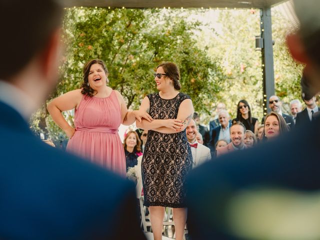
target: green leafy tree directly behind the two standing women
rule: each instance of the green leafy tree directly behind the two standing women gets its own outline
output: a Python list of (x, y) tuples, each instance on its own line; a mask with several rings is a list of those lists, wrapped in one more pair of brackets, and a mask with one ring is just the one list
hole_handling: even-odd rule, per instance
[[(137, 108), (146, 94), (157, 91), (155, 67), (172, 61), (180, 68), (181, 91), (190, 95), (196, 111), (207, 113), (224, 75), (219, 61), (196, 45), (200, 22), (186, 21), (181, 14), (177, 9), (66, 9), (61, 80), (51, 98), (79, 88), (83, 64), (100, 58), (108, 68), (109, 85), (120, 91), (128, 108)], [(48, 126), (57, 137), (56, 126)]]

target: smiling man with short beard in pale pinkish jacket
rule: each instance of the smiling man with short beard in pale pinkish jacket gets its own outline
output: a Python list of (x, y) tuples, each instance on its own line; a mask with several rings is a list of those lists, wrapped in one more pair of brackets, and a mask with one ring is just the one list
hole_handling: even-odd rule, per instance
[(242, 150), (246, 148), (243, 143), (244, 140), (245, 127), (242, 122), (237, 121), (230, 127), (231, 142), (226, 146), (220, 147), (216, 150), (216, 156), (224, 153), (228, 153), (235, 150)]

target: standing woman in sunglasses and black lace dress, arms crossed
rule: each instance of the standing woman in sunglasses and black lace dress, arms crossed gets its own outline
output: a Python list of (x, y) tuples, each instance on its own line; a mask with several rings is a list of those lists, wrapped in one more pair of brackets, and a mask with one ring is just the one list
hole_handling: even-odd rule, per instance
[(148, 130), (141, 163), (144, 205), (149, 207), (154, 240), (162, 239), (164, 207), (173, 207), (175, 239), (182, 240), (186, 221), (185, 177), (192, 167), (192, 154), (185, 128), (192, 118), (190, 97), (179, 92), (180, 73), (172, 62), (157, 66), (154, 81), (158, 92), (142, 100), (140, 111), (151, 122), (136, 126)]

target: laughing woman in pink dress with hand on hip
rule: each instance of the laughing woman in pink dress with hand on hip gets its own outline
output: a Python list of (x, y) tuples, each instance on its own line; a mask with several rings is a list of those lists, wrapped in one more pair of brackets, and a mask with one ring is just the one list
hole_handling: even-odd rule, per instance
[[(83, 67), (82, 88), (54, 98), (47, 109), (70, 138), (67, 151), (78, 154), (114, 172), (125, 175), (125, 156), (118, 135), (120, 123), (132, 124), (135, 119), (152, 120), (147, 112), (128, 111), (122, 95), (107, 86), (107, 69), (102, 60), (93, 59)], [(75, 108), (74, 126), (62, 111)]]

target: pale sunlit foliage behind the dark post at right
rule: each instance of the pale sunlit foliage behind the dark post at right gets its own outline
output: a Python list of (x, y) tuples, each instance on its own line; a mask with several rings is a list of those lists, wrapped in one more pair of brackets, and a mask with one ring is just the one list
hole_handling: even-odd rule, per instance
[[(201, 13), (203, 14), (203, 13)], [(261, 119), (262, 70), (261, 52), (255, 50), (254, 36), (260, 34), (260, 12), (258, 9), (208, 10), (205, 13), (209, 27), (198, 35), (199, 47), (208, 49), (208, 55), (221, 59), (226, 79), (220, 82), (225, 89), (217, 95), (224, 102), (232, 117), (236, 115), (236, 104), (246, 99), (252, 116)], [(292, 30), (290, 22), (275, 7), (272, 8), (272, 39), (274, 57), (275, 94), (284, 102), (299, 98), (299, 79), (302, 66), (293, 61), (285, 45), (285, 34)], [(204, 44), (203, 44), (204, 43)], [(212, 108), (216, 106), (213, 102)], [(287, 104), (283, 105), (288, 110)]]

